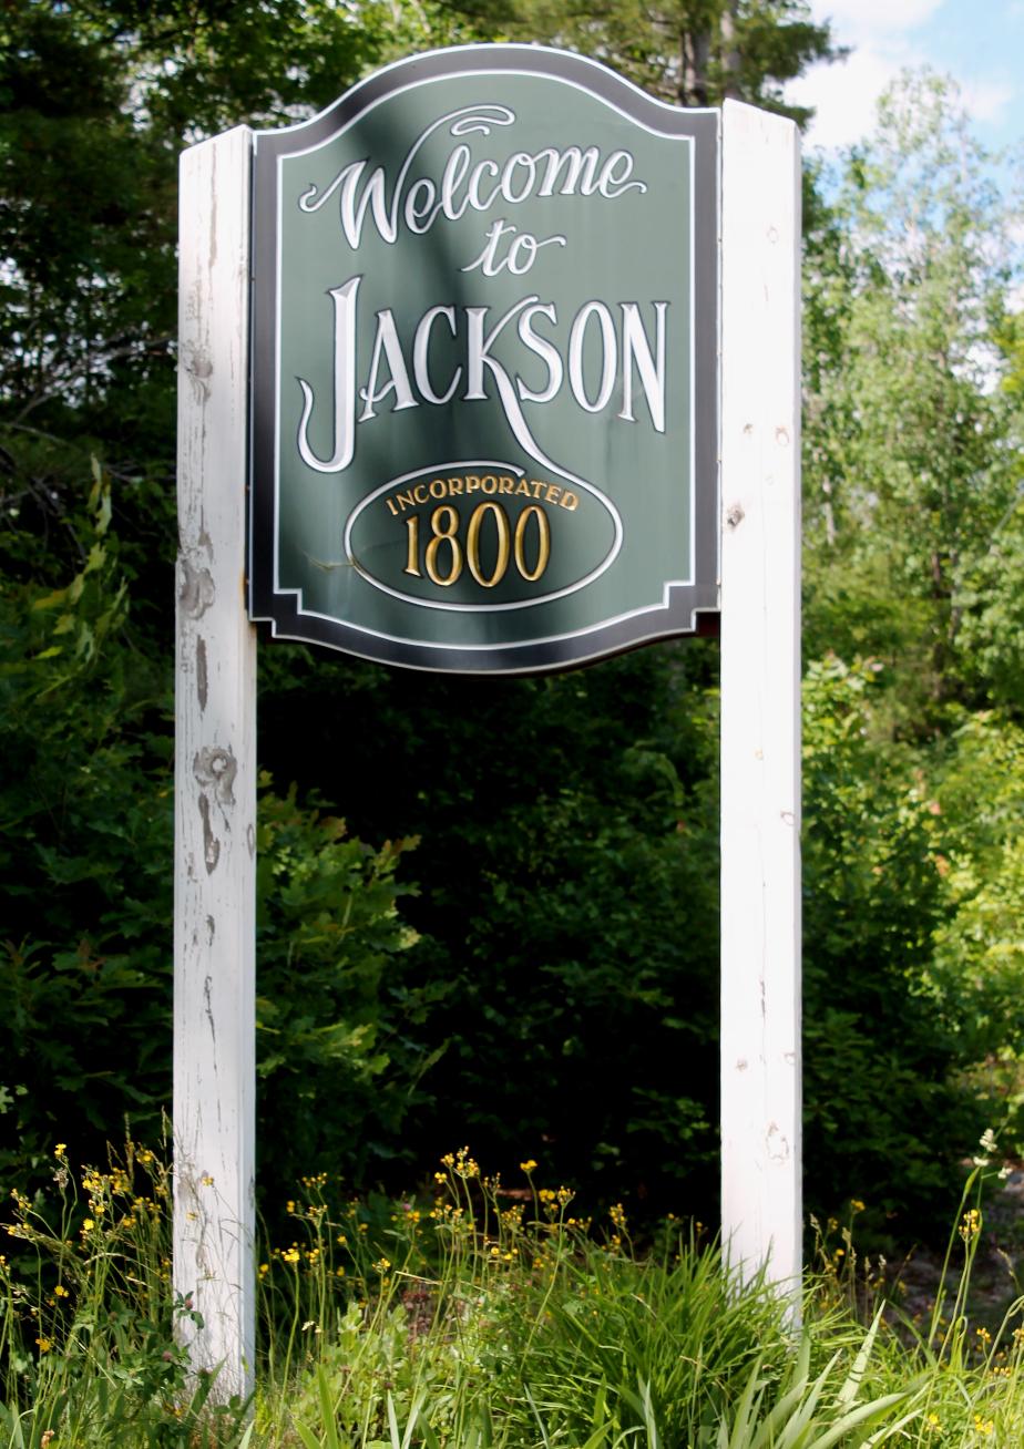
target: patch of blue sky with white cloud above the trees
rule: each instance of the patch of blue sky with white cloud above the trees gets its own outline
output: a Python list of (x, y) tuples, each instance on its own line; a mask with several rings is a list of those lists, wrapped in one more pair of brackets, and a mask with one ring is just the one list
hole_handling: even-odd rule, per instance
[(1024, 158), (1024, 0), (811, 0), (811, 12), (851, 54), (786, 91), (817, 109), (806, 148), (867, 135), (879, 93), (904, 68), (928, 65), (960, 84), (986, 148)]

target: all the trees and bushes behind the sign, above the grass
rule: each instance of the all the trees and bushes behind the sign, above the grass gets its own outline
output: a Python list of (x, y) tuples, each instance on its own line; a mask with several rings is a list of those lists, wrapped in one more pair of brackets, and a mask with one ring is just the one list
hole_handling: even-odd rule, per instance
[[(9, 1174), (167, 1103), (177, 151), (477, 35), (775, 107), (831, 49), (799, 0), (3, 10)], [(930, 80), (809, 196), (808, 1190), (907, 1213), (938, 1206), (973, 1136), (972, 1068), (1020, 1095), (1012, 217)], [(715, 688), (701, 642), (542, 681), (265, 651), (261, 764), (297, 781), (261, 804), (265, 1161), (396, 1181), (413, 1143), (468, 1133), (596, 1197), (714, 1213)], [(402, 842), (360, 845), (332, 810), (419, 838), (421, 894), (396, 884)]]

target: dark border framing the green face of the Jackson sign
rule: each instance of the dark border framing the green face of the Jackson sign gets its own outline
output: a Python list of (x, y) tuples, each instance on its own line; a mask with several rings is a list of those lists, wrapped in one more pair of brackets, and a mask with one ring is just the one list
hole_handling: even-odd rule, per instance
[[(664, 604), (627, 619), (606, 622), (558, 639), (502, 643), (486, 649), (421, 643), (381, 635), (338, 620), (300, 613), (293, 591), (274, 588), (274, 477), (277, 407), (277, 158), (328, 141), (338, 129), (393, 91), (444, 75), (496, 75), (505, 71), (569, 81), (609, 101), (641, 125), (667, 136), (692, 136), (693, 174), (693, 314), (695, 314), (695, 580), (666, 585)], [(566, 51), (534, 45), (466, 45), (399, 61), (347, 91), (302, 126), (257, 132), (252, 177), (252, 317), (251, 317), (251, 490), (249, 616), (270, 622), (274, 638), (326, 645), (379, 664), (432, 672), (540, 674), (621, 653), (654, 639), (714, 632), (718, 613), (718, 327), (719, 327), (719, 113), (683, 110), (656, 101), (606, 67)], [(712, 626), (711, 629), (708, 626)]]

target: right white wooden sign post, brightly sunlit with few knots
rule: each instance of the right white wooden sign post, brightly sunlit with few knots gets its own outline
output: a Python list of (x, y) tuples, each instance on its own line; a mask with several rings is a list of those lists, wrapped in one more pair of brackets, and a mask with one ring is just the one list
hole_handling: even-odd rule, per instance
[(799, 1311), (801, 762), (796, 126), (722, 109), (722, 1235)]

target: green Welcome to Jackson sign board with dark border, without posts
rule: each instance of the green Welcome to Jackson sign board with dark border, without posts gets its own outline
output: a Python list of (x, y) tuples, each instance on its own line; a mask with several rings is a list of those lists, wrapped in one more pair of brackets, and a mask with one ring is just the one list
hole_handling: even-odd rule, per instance
[(251, 613), (567, 668), (718, 607), (718, 113), (467, 46), (260, 133)]

